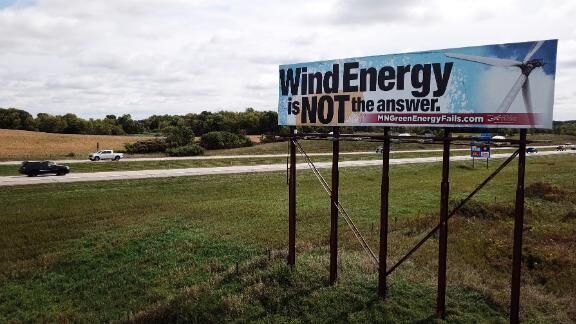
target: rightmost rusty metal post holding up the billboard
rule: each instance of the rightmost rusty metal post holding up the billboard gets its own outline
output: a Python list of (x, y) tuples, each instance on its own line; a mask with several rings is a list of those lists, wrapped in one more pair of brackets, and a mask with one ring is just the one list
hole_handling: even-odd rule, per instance
[(512, 256), (512, 287), (510, 323), (520, 322), (520, 273), (522, 266), (522, 230), (524, 228), (524, 175), (526, 171), (526, 129), (520, 130), (518, 149), (518, 184), (516, 185), (516, 208), (514, 213), (514, 248)]

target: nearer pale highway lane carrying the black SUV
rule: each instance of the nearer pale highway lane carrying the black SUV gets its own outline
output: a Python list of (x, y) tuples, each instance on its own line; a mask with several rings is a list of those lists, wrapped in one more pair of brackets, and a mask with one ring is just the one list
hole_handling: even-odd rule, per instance
[[(559, 155), (559, 154), (576, 154), (576, 150), (570, 151), (543, 151), (537, 153), (537, 156)], [(284, 155), (281, 155), (284, 156)], [(507, 158), (508, 153), (492, 154), (492, 159)], [(469, 156), (453, 156), (451, 161), (470, 160)], [(390, 159), (391, 165), (411, 164), (411, 163), (434, 163), (442, 161), (442, 157), (423, 157), (423, 158), (404, 158)], [(365, 167), (381, 165), (382, 160), (361, 160), (361, 161), (342, 161), (341, 168)], [(331, 162), (315, 163), (318, 169), (330, 168)], [(297, 169), (308, 169), (306, 163), (298, 163)], [(286, 164), (267, 164), (267, 165), (238, 165), (230, 167), (210, 167), (210, 168), (188, 168), (188, 169), (171, 169), (171, 170), (140, 170), (140, 171), (112, 171), (112, 172), (93, 172), (93, 173), (71, 173), (66, 176), (8, 176), (0, 177), (0, 186), (19, 186), (32, 184), (48, 183), (67, 183), (67, 182), (90, 182), (90, 181), (107, 181), (107, 180), (128, 180), (128, 179), (147, 179), (147, 178), (166, 178), (166, 177), (190, 177), (201, 175), (219, 175), (219, 174), (238, 174), (238, 173), (256, 173), (256, 172), (274, 172), (285, 171)]]

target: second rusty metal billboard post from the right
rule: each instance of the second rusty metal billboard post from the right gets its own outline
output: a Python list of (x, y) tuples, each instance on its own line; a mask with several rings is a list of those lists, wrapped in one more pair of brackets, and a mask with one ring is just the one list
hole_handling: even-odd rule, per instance
[(438, 240), (438, 292), (436, 316), (446, 316), (446, 259), (448, 256), (448, 198), (450, 195), (450, 129), (444, 128), (442, 183), (440, 185), (440, 238)]

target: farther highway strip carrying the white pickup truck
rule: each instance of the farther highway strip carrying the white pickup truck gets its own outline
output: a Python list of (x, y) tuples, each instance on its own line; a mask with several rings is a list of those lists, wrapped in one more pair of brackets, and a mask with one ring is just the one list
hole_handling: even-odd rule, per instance
[[(553, 148), (556, 146), (538, 146), (538, 148)], [(510, 150), (512, 147), (492, 147), (492, 151), (497, 150)], [(470, 148), (451, 149), (450, 151), (470, 151)], [(390, 154), (396, 153), (427, 153), (427, 152), (442, 152), (442, 149), (433, 150), (407, 150), (407, 151), (391, 151)], [(369, 152), (340, 152), (340, 155), (361, 155), (361, 154), (375, 154), (374, 151)], [(329, 156), (332, 153), (308, 153), (309, 156)], [(156, 158), (125, 158), (118, 162), (138, 162), (138, 161), (177, 161), (177, 160), (222, 160), (222, 159), (255, 159), (255, 158), (281, 158), (286, 157), (286, 154), (258, 154), (258, 155), (214, 155), (214, 156), (184, 156), (184, 157), (156, 157)], [(93, 162), (86, 158), (85, 160), (56, 160), (58, 164), (68, 163), (110, 163), (110, 161)], [(22, 161), (4, 161), (0, 165), (19, 165)], [(117, 163), (117, 162), (114, 162)]]

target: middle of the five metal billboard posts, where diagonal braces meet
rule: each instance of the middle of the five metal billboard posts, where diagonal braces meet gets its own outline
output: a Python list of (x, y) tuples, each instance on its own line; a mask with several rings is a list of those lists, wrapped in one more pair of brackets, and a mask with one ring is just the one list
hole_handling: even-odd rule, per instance
[(378, 296), (386, 298), (386, 258), (388, 256), (388, 193), (390, 191), (390, 127), (384, 127), (382, 145), (382, 183), (380, 186), (380, 255)]

